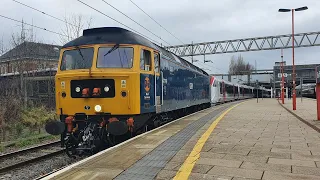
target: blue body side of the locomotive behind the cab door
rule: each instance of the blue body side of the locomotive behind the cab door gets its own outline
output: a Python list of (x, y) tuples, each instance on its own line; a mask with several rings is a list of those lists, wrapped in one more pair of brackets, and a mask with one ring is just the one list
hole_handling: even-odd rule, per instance
[[(163, 74), (161, 112), (210, 104), (210, 77), (208, 75), (202, 74), (190, 66), (182, 65), (178, 58), (169, 61), (164, 54), (160, 57)], [(160, 88), (158, 89), (160, 90)]]

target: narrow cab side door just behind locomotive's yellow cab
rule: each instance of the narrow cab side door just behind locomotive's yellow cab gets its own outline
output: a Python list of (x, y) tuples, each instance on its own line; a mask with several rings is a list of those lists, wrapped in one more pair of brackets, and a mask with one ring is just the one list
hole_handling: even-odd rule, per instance
[(163, 104), (163, 81), (162, 81), (162, 73), (160, 72), (160, 55), (157, 52), (153, 53), (153, 62), (154, 62), (154, 94), (155, 94), (155, 100), (154, 104), (156, 106), (156, 113), (161, 112), (161, 105)]

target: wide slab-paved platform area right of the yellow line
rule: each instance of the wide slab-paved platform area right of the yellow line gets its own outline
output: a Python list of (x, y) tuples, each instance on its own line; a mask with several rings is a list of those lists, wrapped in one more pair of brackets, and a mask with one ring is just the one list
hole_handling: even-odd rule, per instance
[[(189, 141), (188, 146), (193, 148), (196, 143)], [(275, 99), (250, 100), (231, 110), (213, 130), (195, 162), (186, 161), (190, 156), (186, 150), (179, 155), (158, 179), (186, 179), (186, 175), (188, 179), (220, 180), (320, 179), (319, 133)], [(192, 163), (188, 175), (190, 170), (181, 164), (188, 167)]]

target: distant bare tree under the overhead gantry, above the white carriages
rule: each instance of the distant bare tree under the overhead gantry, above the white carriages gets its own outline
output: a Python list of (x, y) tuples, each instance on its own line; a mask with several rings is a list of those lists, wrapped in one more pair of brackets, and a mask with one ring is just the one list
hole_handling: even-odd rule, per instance
[(231, 57), (231, 61), (229, 64), (229, 74), (231, 75), (244, 75), (250, 74), (254, 69), (250, 63), (246, 63), (243, 60), (243, 57), (240, 55), (237, 59), (234, 56)]

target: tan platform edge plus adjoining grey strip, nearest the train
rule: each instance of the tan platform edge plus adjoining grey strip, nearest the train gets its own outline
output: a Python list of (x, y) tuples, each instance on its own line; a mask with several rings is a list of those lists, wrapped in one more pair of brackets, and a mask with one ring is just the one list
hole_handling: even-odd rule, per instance
[(206, 122), (234, 103), (181, 118), (44, 179), (154, 179)]

